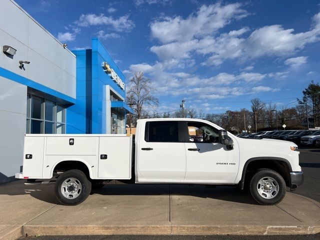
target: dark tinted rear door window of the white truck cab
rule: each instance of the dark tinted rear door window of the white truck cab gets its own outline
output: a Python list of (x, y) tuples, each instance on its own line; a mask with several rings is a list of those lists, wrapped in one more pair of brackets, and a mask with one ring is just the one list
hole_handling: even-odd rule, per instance
[(178, 142), (179, 140), (177, 121), (149, 121), (145, 127), (145, 141)]

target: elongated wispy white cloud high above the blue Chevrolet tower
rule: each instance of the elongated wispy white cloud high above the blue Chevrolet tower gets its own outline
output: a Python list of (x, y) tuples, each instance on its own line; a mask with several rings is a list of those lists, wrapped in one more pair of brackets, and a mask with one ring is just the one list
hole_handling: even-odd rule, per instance
[(92, 26), (92, 25), (108, 25), (115, 31), (129, 32), (135, 26), (134, 22), (129, 19), (128, 15), (113, 18), (112, 16), (105, 16), (103, 13), (96, 15), (94, 13), (81, 14), (79, 19), (75, 21), (78, 26)]

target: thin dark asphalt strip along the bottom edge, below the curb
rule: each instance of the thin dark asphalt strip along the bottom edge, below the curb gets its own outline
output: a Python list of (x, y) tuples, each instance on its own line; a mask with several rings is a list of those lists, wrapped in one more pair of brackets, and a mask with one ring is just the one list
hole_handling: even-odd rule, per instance
[(35, 240), (319, 240), (316, 235), (281, 235), (281, 236), (238, 236), (238, 235), (211, 235), (211, 236), (181, 236), (181, 235), (110, 235), (110, 236), (38, 236), (25, 237)]

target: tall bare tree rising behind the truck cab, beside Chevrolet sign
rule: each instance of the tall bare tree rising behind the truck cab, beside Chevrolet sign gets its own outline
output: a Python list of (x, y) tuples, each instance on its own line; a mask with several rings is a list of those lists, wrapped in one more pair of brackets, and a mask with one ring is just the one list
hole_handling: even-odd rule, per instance
[(151, 80), (144, 77), (143, 72), (135, 72), (130, 79), (130, 85), (127, 103), (134, 111), (133, 118), (140, 119), (143, 115), (148, 115), (147, 107), (154, 109), (159, 100), (154, 96), (155, 89), (151, 87)]

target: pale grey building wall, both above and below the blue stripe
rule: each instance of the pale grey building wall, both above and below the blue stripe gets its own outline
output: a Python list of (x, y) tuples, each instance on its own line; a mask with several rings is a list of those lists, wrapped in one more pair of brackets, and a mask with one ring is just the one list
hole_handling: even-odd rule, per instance
[[(22, 165), (27, 97), (26, 85), (1, 74), (10, 71), (75, 98), (76, 68), (75, 55), (13, 0), (0, 0), (0, 9), (0, 67), (4, 68), (0, 68), (1, 183), (13, 179)], [(15, 48), (16, 54), (4, 54), (3, 45)], [(20, 69), (19, 60), (30, 64), (24, 64), (25, 70)]]

